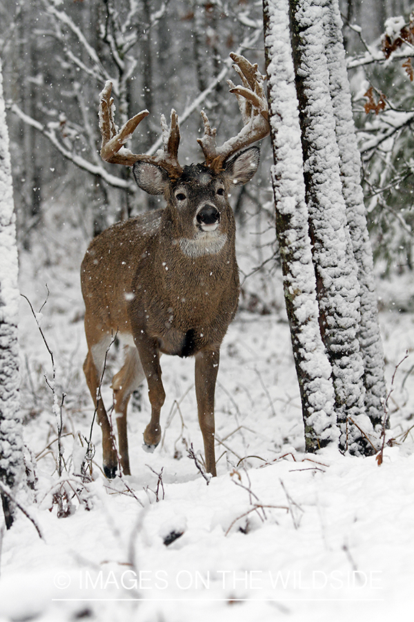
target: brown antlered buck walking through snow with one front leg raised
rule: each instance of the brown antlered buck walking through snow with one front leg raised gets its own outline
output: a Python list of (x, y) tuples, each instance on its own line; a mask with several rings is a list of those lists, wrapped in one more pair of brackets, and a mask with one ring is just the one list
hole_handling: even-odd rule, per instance
[[(115, 124), (112, 84), (100, 93), (99, 127), (104, 162), (132, 167), (137, 185), (150, 195), (164, 195), (166, 206), (112, 225), (92, 240), (81, 263), (88, 353), (83, 364), (102, 433), (103, 473), (130, 475), (127, 407), (130, 395), (148, 384), (150, 422), (144, 449), (161, 440), (160, 412), (166, 393), (160, 355), (194, 357), (195, 394), (205, 468), (217, 475), (215, 462), (215, 385), (221, 342), (235, 317), (239, 272), (235, 254), (235, 217), (228, 202), (233, 186), (246, 184), (257, 171), (259, 148), (250, 147), (269, 133), (265, 77), (257, 64), (230, 54), (242, 85), (228, 80), (244, 126), (217, 147), (216, 129), (201, 111), (204, 135), (197, 139), (201, 164), (181, 167), (177, 113), (170, 126), (161, 116), (163, 147), (155, 155), (124, 147), (149, 113), (141, 111), (119, 130)], [(118, 337), (124, 364), (112, 379), (118, 447), (101, 398), (106, 354)]]

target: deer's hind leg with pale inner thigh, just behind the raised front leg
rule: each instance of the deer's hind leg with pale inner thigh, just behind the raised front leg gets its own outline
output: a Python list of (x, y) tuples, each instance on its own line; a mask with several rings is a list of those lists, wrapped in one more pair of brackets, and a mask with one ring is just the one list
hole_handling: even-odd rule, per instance
[(124, 475), (130, 475), (128, 455), (128, 431), (126, 410), (133, 393), (145, 379), (144, 370), (135, 346), (125, 346), (125, 361), (119, 372), (112, 378), (114, 392), (115, 416), (117, 418), (119, 454)]

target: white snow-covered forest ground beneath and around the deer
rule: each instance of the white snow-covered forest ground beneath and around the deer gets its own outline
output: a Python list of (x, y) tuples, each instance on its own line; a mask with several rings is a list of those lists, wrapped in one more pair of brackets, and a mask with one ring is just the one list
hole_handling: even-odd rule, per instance
[[(144, 390), (141, 406), (130, 405), (132, 476), (103, 477), (95, 426), (95, 480), (82, 488), (72, 474), (79, 473), (79, 438), (88, 437), (93, 413), (82, 372), (79, 286), (88, 235), (79, 233), (80, 214), (71, 209), (46, 211), (32, 252), (20, 255), (20, 286), (36, 311), (46, 284), (50, 291), (38, 319), (55, 358), (59, 402), (66, 393), (63, 480), (77, 495), (70, 516), (57, 518), (57, 426), (43, 377), (52, 377), (50, 355), (22, 299), (21, 399), (38, 478), (30, 510), (43, 539), (21, 513), (3, 534), (0, 621), (266, 622), (277, 616), (341, 622), (352, 616), (378, 622), (408, 612), (414, 600), (412, 276), (378, 282), (388, 388), (395, 373), (388, 437), (397, 440), (386, 446), (382, 466), (375, 457), (332, 450), (304, 455), (281, 275), (273, 270), (246, 281), (246, 290), (272, 312), (240, 311), (221, 350), (217, 479), (206, 485), (187, 457), (191, 444), (202, 448), (193, 361), (163, 357), (160, 446), (154, 453), (142, 449), (149, 420)], [(260, 263), (250, 252), (252, 239), (238, 234), (243, 272)], [(108, 380), (119, 356), (116, 348), (110, 352)], [(182, 535), (167, 545), (171, 534)]]

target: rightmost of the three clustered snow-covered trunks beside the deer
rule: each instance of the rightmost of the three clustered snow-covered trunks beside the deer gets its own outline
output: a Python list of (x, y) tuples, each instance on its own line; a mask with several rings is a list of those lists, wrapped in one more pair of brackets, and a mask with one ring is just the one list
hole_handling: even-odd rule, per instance
[(361, 317), (357, 337), (364, 363), (365, 407), (366, 414), (375, 425), (381, 422), (384, 415), (386, 397), (384, 354), (378, 325), (373, 255), (360, 183), (361, 160), (352, 116), (338, 0), (328, 2), (324, 30), (326, 32), (326, 61), (339, 148), (342, 194), (346, 203), (346, 216), (358, 270)]

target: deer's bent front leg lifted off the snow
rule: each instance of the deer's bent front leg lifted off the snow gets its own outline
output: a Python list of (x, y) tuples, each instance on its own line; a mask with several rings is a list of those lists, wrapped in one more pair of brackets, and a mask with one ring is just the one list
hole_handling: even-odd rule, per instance
[(148, 397), (151, 404), (151, 420), (144, 431), (144, 443), (155, 449), (161, 440), (161, 426), (159, 424), (159, 414), (161, 406), (166, 399), (166, 393), (161, 381), (161, 366), (159, 365), (158, 343), (155, 339), (140, 334), (135, 339), (138, 348), (141, 365), (144, 369), (148, 383)]

